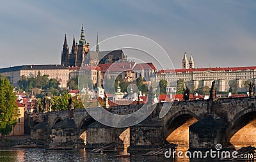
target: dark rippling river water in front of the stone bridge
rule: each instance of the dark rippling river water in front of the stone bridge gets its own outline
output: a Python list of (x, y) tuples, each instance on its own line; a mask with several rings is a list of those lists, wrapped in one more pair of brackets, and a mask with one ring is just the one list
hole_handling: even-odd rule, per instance
[[(147, 151), (146, 151), (147, 152)], [(21, 162), (29, 162), (29, 161), (172, 161), (171, 159), (166, 159), (164, 157), (156, 157), (156, 156), (141, 156), (146, 152), (130, 152), (130, 154), (134, 155), (132, 158), (116, 158), (116, 154), (124, 154), (124, 151), (120, 152), (105, 152), (104, 155), (95, 154), (85, 149), (72, 149), (72, 150), (47, 150), (47, 149), (12, 149), (10, 147), (0, 147), (0, 161), (21, 161)], [(177, 162), (189, 161), (189, 159), (176, 159)], [(204, 159), (198, 160), (195, 159), (193, 161), (214, 161), (213, 159)]]

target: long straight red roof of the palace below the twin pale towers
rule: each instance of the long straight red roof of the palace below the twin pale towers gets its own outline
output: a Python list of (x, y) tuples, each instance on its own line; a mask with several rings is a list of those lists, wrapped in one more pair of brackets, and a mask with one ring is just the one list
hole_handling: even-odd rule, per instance
[(195, 68), (195, 69), (175, 69), (175, 70), (160, 70), (157, 73), (185, 73), (185, 72), (193, 72), (193, 71), (243, 71), (243, 70), (256, 70), (256, 66), (244, 66), (244, 67), (227, 67), (227, 68)]

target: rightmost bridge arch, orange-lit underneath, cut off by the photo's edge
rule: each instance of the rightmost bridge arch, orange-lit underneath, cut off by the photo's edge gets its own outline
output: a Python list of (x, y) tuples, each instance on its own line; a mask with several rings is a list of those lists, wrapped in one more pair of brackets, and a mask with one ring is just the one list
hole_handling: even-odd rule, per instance
[(256, 107), (239, 112), (226, 129), (228, 144), (234, 147), (256, 146)]

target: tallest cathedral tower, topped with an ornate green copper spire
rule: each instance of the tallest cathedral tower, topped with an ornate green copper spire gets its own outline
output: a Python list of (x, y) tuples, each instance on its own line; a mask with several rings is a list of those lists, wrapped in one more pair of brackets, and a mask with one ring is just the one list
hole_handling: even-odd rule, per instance
[(81, 35), (79, 44), (77, 45), (77, 59), (76, 59), (76, 66), (81, 66), (83, 63), (83, 59), (85, 58), (86, 54), (89, 52), (89, 43), (86, 43), (86, 40), (84, 38), (84, 27), (82, 23), (82, 29), (81, 29)]

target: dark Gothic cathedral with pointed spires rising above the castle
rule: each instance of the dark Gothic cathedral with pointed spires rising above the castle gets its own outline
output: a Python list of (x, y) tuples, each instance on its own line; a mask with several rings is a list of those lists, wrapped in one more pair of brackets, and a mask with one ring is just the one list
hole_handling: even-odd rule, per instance
[(84, 27), (82, 24), (80, 40), (76, 43), (75, 36), (73, 37), (73, 44), (70, 52), (65, 34), (64, 44), (61, 51), (61, 64), (64, 66), (80, 67), (84, 59), (84, 64), (93, 66), (97, 66), (97, 64), (115, 63), (115, 61), (119, 60), (122, 60), (121, 62), (126, 61), (126, 56), (124, 55), (123, 50), (100, 51), (98, 34), (96, 51), (89, 52), (89, 50), (90, 45), (88, 41), (86, 42), (85, 40)]

